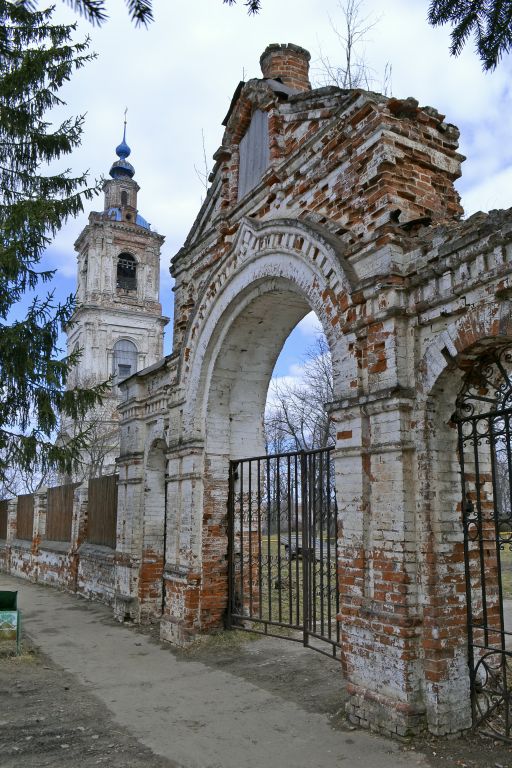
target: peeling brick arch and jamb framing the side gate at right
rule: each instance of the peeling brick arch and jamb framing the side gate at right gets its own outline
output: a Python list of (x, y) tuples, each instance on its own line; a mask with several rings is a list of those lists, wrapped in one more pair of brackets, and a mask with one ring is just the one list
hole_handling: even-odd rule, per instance
[[(418, 403), (418, 590), (427, 708), (442, 730), (446, 702), (457, 691), (457, 727), (471, 724), (461, 465), (452, 420), (468, 367), (490, 348), (512, 343), (499, 304), (469, 310), (427, 349)], [(482, 461), (482, 458), (480, 459)], [(467, 466), (466, 466), (467, 468)], [(480, 466), (484, 470), (484, 466)], [(442, 634), (439, 627), (443, 628)], [(452, 714), (453, 716), (453, 714)]]

